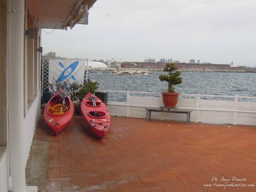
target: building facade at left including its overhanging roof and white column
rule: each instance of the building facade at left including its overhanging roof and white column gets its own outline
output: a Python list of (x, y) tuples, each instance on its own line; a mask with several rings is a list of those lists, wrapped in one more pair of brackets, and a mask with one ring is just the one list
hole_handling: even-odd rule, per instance
[(0, 1), (1, 192), (37, 190), (26, 186), (25, 168), (40, 116), (41, 28), (72, 28), (80, 19), (86, 24), (94, 3)]

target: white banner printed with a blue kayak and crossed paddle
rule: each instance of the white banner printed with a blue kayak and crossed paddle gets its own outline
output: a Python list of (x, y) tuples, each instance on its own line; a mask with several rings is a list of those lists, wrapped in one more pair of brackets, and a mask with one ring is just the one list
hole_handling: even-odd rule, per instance
[(62, 82), (70, 78), (70, 82), (78, 82), (84, 84), (84, 71), (86, 68), (86, 60), (49, 60), (49, 82), (55, 80)]

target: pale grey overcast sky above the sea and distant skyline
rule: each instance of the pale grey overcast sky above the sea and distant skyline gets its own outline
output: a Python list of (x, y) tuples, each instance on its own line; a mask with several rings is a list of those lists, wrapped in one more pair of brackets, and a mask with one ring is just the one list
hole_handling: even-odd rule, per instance
[(255, 0), (98, 0), (89, 12), (88, 26), (42, 31), (44, 53), (256, 66)]

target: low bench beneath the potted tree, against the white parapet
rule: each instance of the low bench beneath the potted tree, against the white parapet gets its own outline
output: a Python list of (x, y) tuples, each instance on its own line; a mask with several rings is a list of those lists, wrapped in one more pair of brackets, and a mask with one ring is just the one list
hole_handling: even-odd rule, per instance
[(175, 114), (187, 114), (187, 124), (190, 124), (190, 114), (191, 111), (179, 110), (176, 107), (160, 107), (160, 108), (146, 108), (147, 110), (147, 120), (151, 120), (151, 112), (169, 112)]

